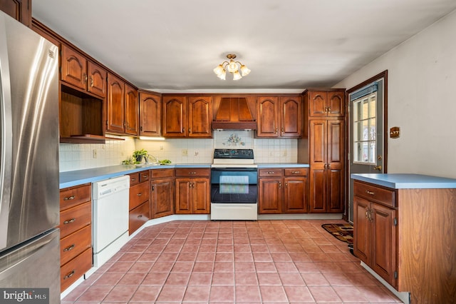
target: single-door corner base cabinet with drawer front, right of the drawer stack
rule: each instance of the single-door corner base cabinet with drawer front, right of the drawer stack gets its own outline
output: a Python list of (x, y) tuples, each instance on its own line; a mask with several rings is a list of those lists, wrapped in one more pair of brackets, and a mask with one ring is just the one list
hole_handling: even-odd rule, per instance
[(174, 169), (150, 171), (150, 212), (152, 218), (174, 214)]

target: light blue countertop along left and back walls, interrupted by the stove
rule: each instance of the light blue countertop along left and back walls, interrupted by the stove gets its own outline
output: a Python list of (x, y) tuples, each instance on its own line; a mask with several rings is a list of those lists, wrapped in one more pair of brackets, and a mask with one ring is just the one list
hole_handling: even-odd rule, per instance
[[(258, 168), (306, 168), (308, 164), (304, 163), (259, 163)], [(211, 168), (210, 163), (173, 163), (163, 166), (142, 166), (135, 165), (118, 165), (100, 168), (89, 168), (76, 171), (66, 171), (59, 174), (60, 188), (68, 188), (82, 185), (83, 183), (93, 183), (103, 181), (108, 178), (123, 176), (125, 174), (135, 173), (144, 170), (154, 170), (163, 168)]]

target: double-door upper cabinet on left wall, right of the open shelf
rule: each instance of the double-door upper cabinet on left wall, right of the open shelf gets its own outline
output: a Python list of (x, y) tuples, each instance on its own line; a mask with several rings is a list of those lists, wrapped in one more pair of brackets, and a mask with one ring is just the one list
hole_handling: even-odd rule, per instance
[(108, 73), (106, 131), (138, 135), (138, 90)]

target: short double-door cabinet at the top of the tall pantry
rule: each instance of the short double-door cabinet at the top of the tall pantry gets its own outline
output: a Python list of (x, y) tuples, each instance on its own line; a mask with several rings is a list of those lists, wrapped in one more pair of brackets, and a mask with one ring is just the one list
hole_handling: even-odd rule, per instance
[(305, 91), (304, 100), (309, 108), (309, 117), (345, 116), (345, 89), (330, 91)]

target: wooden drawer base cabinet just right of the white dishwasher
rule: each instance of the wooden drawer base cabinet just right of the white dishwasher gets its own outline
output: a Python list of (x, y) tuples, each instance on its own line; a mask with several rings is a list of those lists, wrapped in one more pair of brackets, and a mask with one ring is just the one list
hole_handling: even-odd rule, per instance
[(130, 205), (128, 233), (131, 235), (150, 220), (150, 171), (130, 174)]

